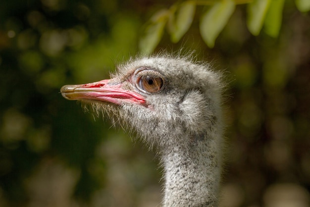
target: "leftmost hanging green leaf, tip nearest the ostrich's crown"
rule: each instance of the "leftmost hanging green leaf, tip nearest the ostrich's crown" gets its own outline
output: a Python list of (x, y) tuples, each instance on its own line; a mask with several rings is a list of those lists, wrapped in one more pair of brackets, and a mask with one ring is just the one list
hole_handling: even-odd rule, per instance
[(139, 51), (142, 54), (150, 54), (154, 51), (162, 37), (169, 14), (168, 10), (160, 10), (152, 16), (139, 41)]

